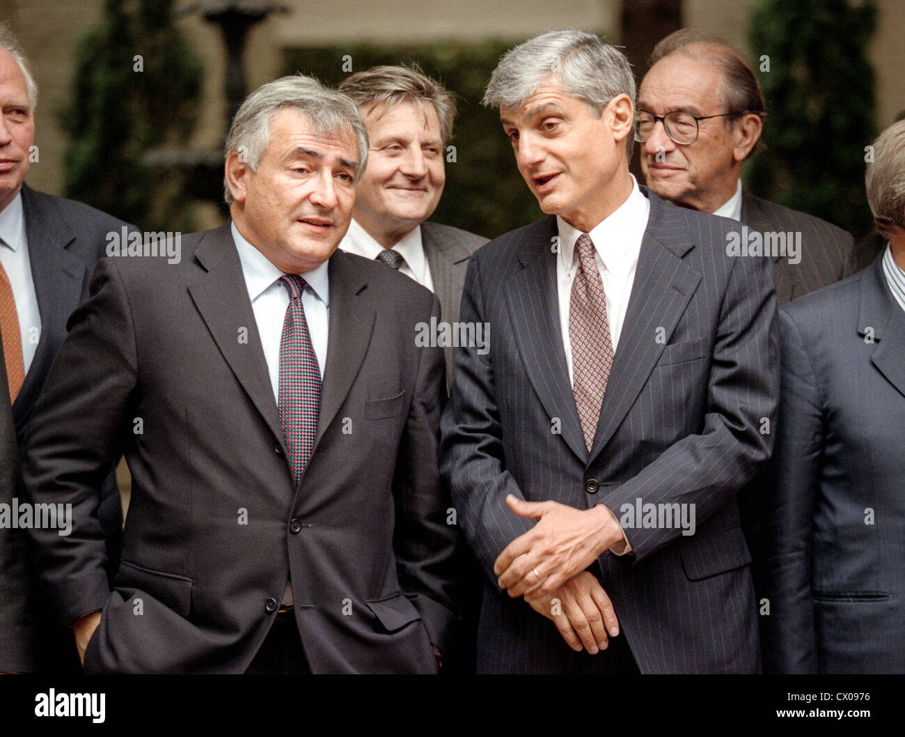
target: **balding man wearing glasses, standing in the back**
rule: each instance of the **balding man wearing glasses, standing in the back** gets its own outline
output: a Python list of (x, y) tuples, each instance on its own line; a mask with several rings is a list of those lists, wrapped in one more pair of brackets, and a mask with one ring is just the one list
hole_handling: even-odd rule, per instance
[(742, 162), (765, 114), (748, 60), (719, 36), (685, 28), (658, 43), (650, 61), (637, 129), (647, 186), (676, 205), (747, 225), (743, 242), (769, 250), (779, 304), (852, 273), (851, 234), (742, 189)]

